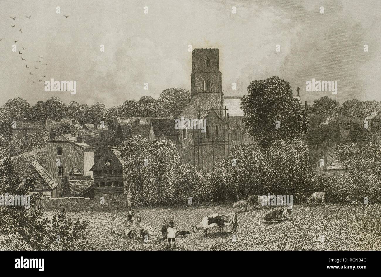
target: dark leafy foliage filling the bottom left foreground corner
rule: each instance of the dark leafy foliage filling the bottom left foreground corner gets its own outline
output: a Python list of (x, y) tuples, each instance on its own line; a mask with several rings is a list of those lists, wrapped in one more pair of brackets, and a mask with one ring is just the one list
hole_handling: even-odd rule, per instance
[[(0, 163), (0, 195), (28, 195), (36, 181), (32, 178), (22, 183), (11, 159)], [(29, 209), (0, 207), (0, 250), (91, 250), (86, 230), (90, 222), (72, 222), (65, 212), (45, 216), (42, 207), (37, 207), (41, 197), (42, 193), (32, 195)]]

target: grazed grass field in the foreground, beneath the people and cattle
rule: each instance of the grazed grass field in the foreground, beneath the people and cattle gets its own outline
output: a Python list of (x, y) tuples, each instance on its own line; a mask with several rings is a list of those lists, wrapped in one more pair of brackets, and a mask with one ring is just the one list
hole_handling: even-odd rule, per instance
[[(278, 207), (279, 208), (279, 207)], [(151, 236), (143, 239), (127, 239), (110, 234), (121, 232), (128, 224), (127, 208), (115, 211), (68, 212), (73, 219), (89, 219), (89, 240), (96, 250), (163, 250), (159, 229), (163, 219), (172, 219), (178, 231), (190, 231), (187, 238), (176, 239), (178, 250), (381, 250), (381, 205), (304, 204), (294, 205), (289, 220), (280, 223), (264, 223), (264, 216), (271, 209), (250, 208), (239, 212), (228, 203), (193, 203), (170, 207), (133, 207), (139, 209), (143, 220), (135, 225), (136, 233), (146, 227)], [(224, 234), (208, 230), (192, 233), (192, 224), (212, 213), (238, 215), (237, 231)], [(133, 224), (134, 225), (134, 224)]]

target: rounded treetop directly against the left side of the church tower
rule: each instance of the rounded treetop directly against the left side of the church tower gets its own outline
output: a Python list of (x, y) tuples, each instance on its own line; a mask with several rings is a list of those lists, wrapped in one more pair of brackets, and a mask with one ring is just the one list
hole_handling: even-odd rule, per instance
[(182, 88), (167, 88), (160, 94), (159, 101), (173, 117), (177, 117), (191, 101), (191, 93)]

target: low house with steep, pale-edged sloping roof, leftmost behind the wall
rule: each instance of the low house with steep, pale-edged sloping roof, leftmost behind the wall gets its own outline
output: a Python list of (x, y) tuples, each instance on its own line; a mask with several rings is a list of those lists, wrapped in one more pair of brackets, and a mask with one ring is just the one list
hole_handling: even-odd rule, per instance
[(45, 197), (58, 197), (59, 184), (37, 160), (30, 163), (21, 179), (24, 183), (26, 179), (32, 179), (34, 176), (37, 178), (37, 183), (35, 189), (29, 190), (30, 195), (42, 192)]

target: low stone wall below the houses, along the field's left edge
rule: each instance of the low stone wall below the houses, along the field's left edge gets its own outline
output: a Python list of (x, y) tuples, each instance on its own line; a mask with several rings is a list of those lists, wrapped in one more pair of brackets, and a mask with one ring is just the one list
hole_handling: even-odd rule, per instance
[(124, 194), (111, 194), (94, 199), (84, 197), (60, 197), (40, 199), (35, 207), (42, 205), (43, 211), (106, 211), (126, 207)]

